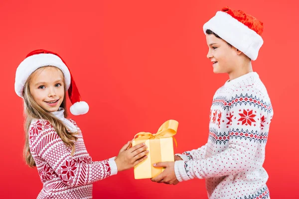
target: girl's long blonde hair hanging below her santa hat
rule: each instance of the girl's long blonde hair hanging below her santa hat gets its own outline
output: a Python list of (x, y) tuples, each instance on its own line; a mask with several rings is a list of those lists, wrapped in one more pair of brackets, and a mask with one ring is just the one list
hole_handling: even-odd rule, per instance
[[(53, 67), (53, 66), (46, 66), (46, 67)], [(38, 68), (38, 70), (43, 70), (45, 67)], [(55, 67), (56, 68), (56, 67)], [(58, 68), (56, 68), (58, 69)], [(60, 69), (58, 69), (60, 70)], [(35, 71), (35, 72), (36, 72)], [(33, 74), (33, 73), (32, 73)], [(24, 130), (25, 130), (25, 145), (23, 150), (23, 157), (25, 159), (26, 164), (29, 167), (36, 166), (35, 161), (30, 153), (30, 147), (29, 147), (29, 127), (33, 119), (46, 119), (48, 120), (59, 137), (62, 139), (62, 141), (65, 143), (66, 146), (70, 147), (72, 152), (71, 155), (75, 152), (75, 141), (77, 141), (77, 137), (75, 136), (77, 132), (70, 132), (69, 129), (66, 127), (66, 125), (59, 120), (55, 115), (52, 113), (44, 110), (42, 107), (40, 107), (32, 98), (29, 84), (32, 79), (32, 74), (28, 77), (25, 85), (24, 85), (24, 91), (23, 91), (23, 99), (24, 99), (24, 113), (25, 113), (25, 122), (24, 122)], [(63, 73), (62, 73), (63, 74)], [(64, 81), (64, 76), (63, 76)], [(64, 81), (64, 99), (60, 105), (60, 107), (64, 108), (64, 117), (67, 116), (66, 111), (66, 85)]]

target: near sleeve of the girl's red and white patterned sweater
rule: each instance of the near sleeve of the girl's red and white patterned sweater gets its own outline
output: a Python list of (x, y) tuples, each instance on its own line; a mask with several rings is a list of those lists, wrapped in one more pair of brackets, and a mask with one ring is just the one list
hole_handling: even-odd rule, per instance
[(114, 158), (92, 162), (89, 158), (73, 158), (47, 120), (36, 120), (29, 128), (31, 154), (41, 157), (68, 186), (87, 185), (117, 174)]

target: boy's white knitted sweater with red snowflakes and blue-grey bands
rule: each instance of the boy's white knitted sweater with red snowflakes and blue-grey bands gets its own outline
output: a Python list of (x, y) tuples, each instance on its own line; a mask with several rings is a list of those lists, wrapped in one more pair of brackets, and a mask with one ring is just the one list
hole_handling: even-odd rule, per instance
[(209, 199), (268, 199), (263, 163), (272, 116), (257, 73), (227, 81), (213, 97), (208, 142), (179, 154), (177, 180), (206, 179)]

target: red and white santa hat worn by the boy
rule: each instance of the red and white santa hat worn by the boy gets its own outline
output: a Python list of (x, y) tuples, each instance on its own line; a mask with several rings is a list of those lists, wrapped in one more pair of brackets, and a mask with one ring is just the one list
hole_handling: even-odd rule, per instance
[(259, 50), (264, 43), (261, 37), (263, 22), (242, 10), (222, 8), (203, 25), (205, 34), (207, 29), (219, 35), (252, 60), (257, 59)]

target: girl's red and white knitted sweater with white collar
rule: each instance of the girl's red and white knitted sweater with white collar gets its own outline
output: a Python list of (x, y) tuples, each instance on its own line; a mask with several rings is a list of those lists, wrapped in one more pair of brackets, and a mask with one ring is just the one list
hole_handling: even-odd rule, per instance
[(92, 183), (117, 174), (113, 159), (93, 162), (76, 122), (60, 108), (53, 114), (72, 131), (78, 131), (75, 153), (58, 136), (48, 120), (35, 119), (29, 127), (30, 152), (43, 188), (37, 199), (91, 199)]

